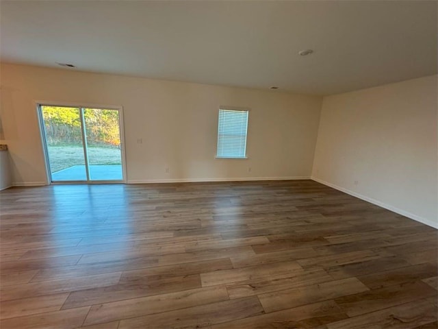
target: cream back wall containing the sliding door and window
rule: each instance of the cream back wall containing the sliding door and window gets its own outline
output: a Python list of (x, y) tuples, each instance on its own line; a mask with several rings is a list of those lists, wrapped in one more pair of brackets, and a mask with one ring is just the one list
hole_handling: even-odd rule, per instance
[[(16, 185), (46, 179), (37, 100), (123, 106), (128, 181), (151, 182), (309, 177), (322, 98), (2, 64), (3, 130)], [(248, 160), (214, 158), (220, 105), (251, 108)]]

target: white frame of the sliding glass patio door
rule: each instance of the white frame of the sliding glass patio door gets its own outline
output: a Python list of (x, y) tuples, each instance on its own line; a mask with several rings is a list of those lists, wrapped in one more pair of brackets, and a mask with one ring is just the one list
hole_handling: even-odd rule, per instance
[[(40, 128), (40, 138), (41, 138), (41, 147), (42, 147), (42, 156), (44, 158), (44, 165), (46, 169), (46, 184), (116, 184), (116, 183), (125, 183), (127, 182), (127, 172), (126, 172), (126, 155), (125, 155), (125, 127), (123, 125), (123, 106), (114, 106), (114, 105), (102, 105), (102, 104), (90, 104), (90, 103), (66, 103), (62, 101), (34, 101), (36, 106), (36, 113), (38, 116), (38, 125)], [(49, 161), (49, 151), (47, 147), (46, 140), (46, 129), (44, 126), (44, 118), (42, 116), (41, 106), (60, 106), (66, 108), (78, 108), (79, 109), (79, 118), (81, 120), (81, 133), (82, 133), (82, 143), (83, 143), (83, 151), (84, 151), (84, 159), (85, 159), (85, 167), (87, 180), (66, 180), (62, 182), (52, 182), (51, 181), (51, 170), (50, 170), (50, 161)], [(83, 118), (83, 110), (84, 108), (93, 108), (99, 110), (117, 110), (118, 111), (118, 129), (120, 131), (120, 157), (122, 158), (122, 180), (90, 180), (90, 168), (88, 166), (88, 150), (87, 150), (87, 140), (85, 135), (85, 120)]]

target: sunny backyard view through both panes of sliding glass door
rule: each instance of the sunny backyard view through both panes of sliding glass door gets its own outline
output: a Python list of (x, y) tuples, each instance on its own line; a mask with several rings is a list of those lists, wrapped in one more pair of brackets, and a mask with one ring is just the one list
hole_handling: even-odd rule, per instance
[(51, 182), (122, 181), (120, 112), (40, 105)]

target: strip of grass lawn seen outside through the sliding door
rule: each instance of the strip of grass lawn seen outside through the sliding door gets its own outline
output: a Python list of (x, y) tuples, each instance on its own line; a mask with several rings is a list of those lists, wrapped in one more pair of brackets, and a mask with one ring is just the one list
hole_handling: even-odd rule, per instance
[[(56, 145), (48, 147), (50, 169), (54, 173), (78, 164), (85, 164), (81, 145)], [(88, 147), (90, 164), (122, 164), (118, 147)]]

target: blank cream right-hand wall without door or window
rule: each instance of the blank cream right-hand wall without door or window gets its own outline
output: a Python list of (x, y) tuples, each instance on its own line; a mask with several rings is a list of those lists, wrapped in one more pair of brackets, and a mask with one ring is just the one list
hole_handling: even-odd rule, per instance
[(324, 97), (313, 178), (438, 228), (437, 108), (436, 75)]

